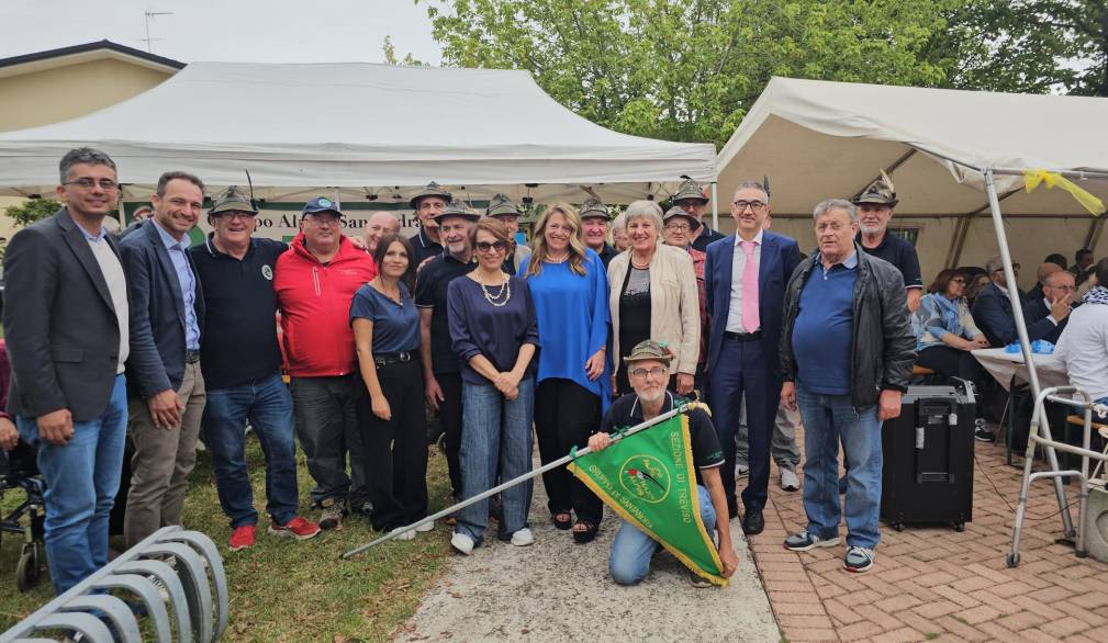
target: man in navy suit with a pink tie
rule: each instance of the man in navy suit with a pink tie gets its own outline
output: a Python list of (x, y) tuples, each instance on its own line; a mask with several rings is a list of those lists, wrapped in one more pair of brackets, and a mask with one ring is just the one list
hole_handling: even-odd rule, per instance
[(708, 400), (724, 448), (724, 489), (732, 518), (738, 516), (735, 432), (743, 394), (748, 405), (750, 478), (742, 490), (742, 531), (748, 535), (765, 528), (769, 447), (781, 391), (777, 354), (784, 287), (800, 263), (794, 239), (763, 230), (769, 214), (762, 185), (739, 184), (731, 203), (737, 234), (708, 246), (704, 269), (711, 329)]

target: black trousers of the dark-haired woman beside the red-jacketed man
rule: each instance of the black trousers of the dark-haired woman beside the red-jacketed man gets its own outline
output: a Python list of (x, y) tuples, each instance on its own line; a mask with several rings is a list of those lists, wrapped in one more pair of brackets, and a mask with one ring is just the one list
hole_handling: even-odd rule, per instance
[(373, 529), (387, 531), (427, 515), (427, 414), (419, 362), (379, 366), (377, 377), (391, 419), (373, 415), (369, 390), (353, 375), (358, 425), (365, 447), (367, 489)]

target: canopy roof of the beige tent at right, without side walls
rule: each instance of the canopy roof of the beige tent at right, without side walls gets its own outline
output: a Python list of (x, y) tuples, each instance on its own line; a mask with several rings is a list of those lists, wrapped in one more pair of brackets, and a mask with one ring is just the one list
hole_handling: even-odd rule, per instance
[[(964, 215), (987, 206), (981, 169), (1108, 172), (1108, 98), (1003, 94), (774, 77), (717, 157), (720, 201), (740, 180), (770, 178), (773, 210), (810, 214), (851, 198), (890, 169), (899, 215)], [(937, 163), (936, 163), (937, 162)], [(997, 176), (997, 189), (1020, 188)], [(1078, 182), (1108, 197), (1108, 182)], [(1015, 193), (1006, 214), (1080, 214), (1068, 194)]]

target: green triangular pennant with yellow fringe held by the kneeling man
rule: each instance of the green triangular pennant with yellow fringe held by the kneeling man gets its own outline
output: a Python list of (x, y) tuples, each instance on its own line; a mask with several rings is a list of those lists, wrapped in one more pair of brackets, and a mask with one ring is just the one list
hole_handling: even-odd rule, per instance
[(676, 415), (570, 465), (604, 502), (687, 568), (724, 587), (724, 564), (700, 522), (688, 417)]

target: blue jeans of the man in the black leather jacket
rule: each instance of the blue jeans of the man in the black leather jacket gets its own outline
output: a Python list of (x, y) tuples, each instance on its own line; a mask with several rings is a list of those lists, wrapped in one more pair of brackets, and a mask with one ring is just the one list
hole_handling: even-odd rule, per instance
[[(873, 549), (881, 540), (881, 423), (878, 407), (854, 408), (850, 395), (811, 393), (797, 384), (804, 423), (804, 512), (808, 532), (839, 536), (845, 514), (847, 545)], [(839, 498), (839, 444), (847, 465), (845, 510)]]

